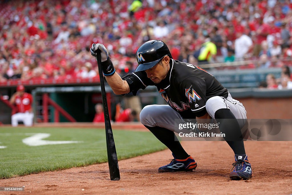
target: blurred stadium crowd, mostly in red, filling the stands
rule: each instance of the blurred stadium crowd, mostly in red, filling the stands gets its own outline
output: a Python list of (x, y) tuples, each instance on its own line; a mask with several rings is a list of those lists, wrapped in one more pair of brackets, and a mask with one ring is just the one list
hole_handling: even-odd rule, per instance
[[(138, 46), (151, 39), (163, 40), (174, 59), (192, 64), (290, 66), (290, 32), (289, 0), (2, 1), (0, 82), (95, 77), (88, 49), (93, 42), (105, 44), (126, 73), (137, 65)], [(210, 51), (202, 54), (202, 48)]]

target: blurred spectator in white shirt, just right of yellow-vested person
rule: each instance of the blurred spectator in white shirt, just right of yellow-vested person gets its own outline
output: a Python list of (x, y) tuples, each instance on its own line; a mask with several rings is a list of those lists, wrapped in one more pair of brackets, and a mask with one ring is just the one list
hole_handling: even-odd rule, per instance
[(248, 57), (248, 52), (251, 51), (253, 42), (250, 37), (242, 32), (237, 32), (236, 37), (237, 39), (234, 42), (235, 58), (237, 61), (241, 61)]

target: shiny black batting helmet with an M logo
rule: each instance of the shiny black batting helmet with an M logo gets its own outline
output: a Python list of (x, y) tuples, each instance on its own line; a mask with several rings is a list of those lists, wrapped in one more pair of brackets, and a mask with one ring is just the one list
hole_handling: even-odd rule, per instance
[(148, 70), (155, 66), (164, 56), (172, 58), (167, 45), (160, 40), (150, 40), (139, 47), (136, 53), (138, 67), (135, 72)]

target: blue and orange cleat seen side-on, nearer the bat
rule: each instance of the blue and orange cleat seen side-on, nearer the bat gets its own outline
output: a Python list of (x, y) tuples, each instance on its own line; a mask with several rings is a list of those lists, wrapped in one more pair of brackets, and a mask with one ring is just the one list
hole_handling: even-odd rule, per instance
[(192, 171), (197, 167), (197, 163), (192, 156), (183, 160), (176, 159), (173, 154), (172, 156), (174, 159), (168, 165), (159, 167), (158, 172)]

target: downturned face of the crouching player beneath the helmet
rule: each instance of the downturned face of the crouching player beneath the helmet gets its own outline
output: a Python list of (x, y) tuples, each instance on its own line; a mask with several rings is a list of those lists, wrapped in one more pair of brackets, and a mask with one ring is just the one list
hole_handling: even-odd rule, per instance
[(157, 63), (152, 68), (145, 70), (147, 77), (150, 78), (154, 83), (160, 83), (163, 79), (165, 79), (168, 73), (169, 61), (170, 58), (165, 56), (161, 62)]

